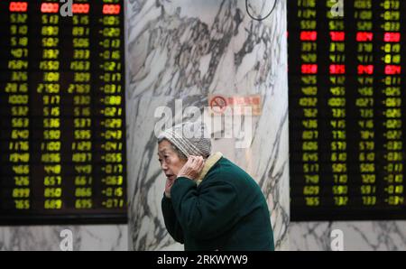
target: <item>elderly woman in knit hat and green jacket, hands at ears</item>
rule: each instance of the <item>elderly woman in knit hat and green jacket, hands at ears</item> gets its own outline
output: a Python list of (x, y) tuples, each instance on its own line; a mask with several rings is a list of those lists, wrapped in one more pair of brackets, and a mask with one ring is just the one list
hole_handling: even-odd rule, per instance
[(258, 184), (210, 150), (201, 124), (176, 125), (158, 137), (167, 178), (161, 207), (171, 237), (185, 250), (273, 250), (270, 213)]

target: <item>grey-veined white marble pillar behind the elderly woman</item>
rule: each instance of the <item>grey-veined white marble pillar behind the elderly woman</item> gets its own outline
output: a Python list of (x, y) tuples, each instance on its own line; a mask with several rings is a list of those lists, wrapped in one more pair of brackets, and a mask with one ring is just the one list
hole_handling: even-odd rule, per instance
[[(176, 111), (176, 100), (203, 110), (210, 94), (262, 96), (263, 114), (253, 117), (249, 146), (237, 148), (234, 136), (214, 139), (214, 149), (258, 181), (272, 210), (277, 249), (288, 249), (286, 1), (278, 1), (263, 22), (246, 14), (245, 0), (125, 3), (130, 249), (183, 249), (161, 217), (165, 179), (156, 157), (154, 113), (171, 107), (175, 120), (187, 119)], [(268, 14), (272, 3), (255, 1), (251, 12)]]

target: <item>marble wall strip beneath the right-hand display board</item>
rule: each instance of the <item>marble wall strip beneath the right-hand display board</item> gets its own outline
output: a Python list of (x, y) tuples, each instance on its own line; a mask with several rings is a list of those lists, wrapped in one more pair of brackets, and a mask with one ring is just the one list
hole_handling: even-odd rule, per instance
[(290, 249), (331, 250), (334, 229), (343, 231), (346, 251), (406, 251), (406, 221), (295, 222), (289, 227)]

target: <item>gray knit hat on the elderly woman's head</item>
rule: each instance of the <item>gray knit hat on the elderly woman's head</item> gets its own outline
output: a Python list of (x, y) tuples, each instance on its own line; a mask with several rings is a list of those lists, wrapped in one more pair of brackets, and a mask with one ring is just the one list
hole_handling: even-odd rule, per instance
[(180, 152), (189, 155), (208, 157), (211, 153), (211, 141), (206, 125), (202, 122), (175, 125), (161, 133), (158, 140), (167, 139)]

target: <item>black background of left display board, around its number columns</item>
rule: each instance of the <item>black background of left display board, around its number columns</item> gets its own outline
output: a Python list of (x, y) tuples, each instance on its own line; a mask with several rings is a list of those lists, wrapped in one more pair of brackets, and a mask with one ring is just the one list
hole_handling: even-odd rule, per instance
[[(5, 83), (10, 77), (10, 70), (7, 69), (7, 64), (10, 55), (10, 32), (9, 32), (9, 2), (1, 1), (0, 22), (2, 28), (0, 29), (0, 87), (4, 88)], [(14, 1), (15, 2), (15, 1)], [(78, 3), (88, 3), (90, 5), (90, 12), (88, 14), (90, 29), (89, 40), (91, 51), (90, 56), (90, 70), (91, 73), (90, 87), (91, 87), (91, 118), (92, 118), (92, 161), (88, 162), (92, 165), (92, 197), (93, 208), (92, 209), (75, 209), (74, 207), (74, 163), (71, 162), (72, 151), (70, 150), (70, 144), (75, 140), (73, 136), (73, 95), (67, 92), (69, 84), (73, 82), (74, 71), (69, 70), (69, 64), (72, 59), (72, 51), (74, 50), (72, 45), (72, 17), (62, 17), (59, 19), (60, 27), (60, 43), (58, 49), (60, 51), (60, 121), (61, 125), (59, 130), (61, 131), (60, 141), (62, 142), (61, 153), (61, 165), (62, 165), (62, 185), (61, 188), (65, 195), (62, 195), (63, 206), (62, 209), (43, 209), (43, 177), (45, 175), (43, 171), (43, 164), (41, 162), (41, 154), (44, 153), (41, 150), (42, 142), (42, 96), (36, 93), (36, 88), (42, 79), (42, 70), (39, 70), (39, 61), (42, 57), (42, 35), (41, 35), (41, 3), (47, 1), (27, 1), (28, 2), (28, 50), (29, 50), (29, 68), (28, 68), (28, 82), (29, 82), (29, 118), (30, 118), (30, 202), (31, 209), (17, 210), (11, 209), (13, 205), (13, 197), (11, 196), (11, 190), (14, 186), (12, 180), (13, 172), (11, 171), (11, 165), (7, 162), (8, 158), (8, 143), (10, 139), (11, 130), (11, 118), (10, 118), (10, 106), (7, 102), (7, 94), (3, 90), (0, 90), (0, 116), (3, 120), (0, 121), (0, 224), (2, 225), (14, 225), (14, 224), (91, 224), (91, 223), (126, 223), (126, 204), (121, 208), (106, 209), (102, 206), (102, 201), (106, 199), (102, 194), (103, 188), (106, 188), (101, 182), (103, 176), (106, 176), (104, 172), (106, 162), (101, 160), (101, 156), (106, 151), (103, 150), (102, 145), (106, 143), (106, 140), (102, 137), (102, 132), (106, 131), (101, 125), (102, 120), (106, 120), (105, 116), (100, 114), (100, 110), (106, 106), (101, 101), (102, 97), (106, 97), (103, 92), (100, 91), (105, 83), (99, 77), (106, 72), (99, 66), (103, 63), (99, 53), (106, 51), (99, 45), (99, 42), (105, 40), (99, 31), (102, 31), (105, 27), (101, 23), (103, 18), (102, 8), (103, 4), (119, 4), (121, 5), (121, 11), (119, 14), (120, 25), (116, 26), (120, 28), (120, 36), (117, 37), (121, 40), (121, 45), (118, 49), (121, 53), (120, 60), (117, 63), (121, 63), (121, 82), (115, 83), (120, 85), (122, 91), (121, 105), (122, 108), (122, 139), (115, 141), (123, 144), (121, 150), (123, 161), (115, 164), (123, 165), (123, 172), (116, 173), (116, 175), (122, 175), (124, 177), (123, 184), (120, 187), (124, 190), (125, 194), (125, 51), (124, 51), (124, 3), (123, 1), (113, 1), (115, 3), (103, 3), (100, 1), (88, 1)], [(111, 1), (110, 1), (111, 2)], [(58, 3), (54, 1), (53, 3)], [(60, 4), (61, 5), (61, 4)], [(59, 13), (57, 15), (60, 15)], [(74, 14), (75, 16), (75, 14)], [(107, 27), (107, 26), (106, 26)], [(107, 49), (108, 50), (108, 49)]]

